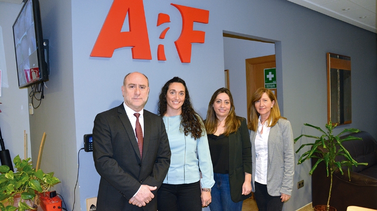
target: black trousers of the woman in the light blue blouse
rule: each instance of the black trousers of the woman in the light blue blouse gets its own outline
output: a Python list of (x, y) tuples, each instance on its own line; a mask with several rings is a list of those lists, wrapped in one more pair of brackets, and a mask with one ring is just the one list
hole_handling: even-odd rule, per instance
[(158, 211), (201, 211), (200, 182), (162, 184), (157, 192)]

